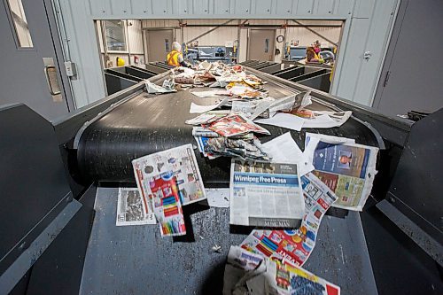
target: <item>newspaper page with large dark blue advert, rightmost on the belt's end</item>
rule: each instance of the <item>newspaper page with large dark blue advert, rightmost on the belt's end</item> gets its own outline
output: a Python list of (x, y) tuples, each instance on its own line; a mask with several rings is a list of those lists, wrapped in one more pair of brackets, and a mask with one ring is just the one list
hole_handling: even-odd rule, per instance
[(378, 148), (340, 138), (307, 136), (305, 145), (315, 145), (313, 173), (338, 196), (334, 206), (361, 211), (377, 174)]

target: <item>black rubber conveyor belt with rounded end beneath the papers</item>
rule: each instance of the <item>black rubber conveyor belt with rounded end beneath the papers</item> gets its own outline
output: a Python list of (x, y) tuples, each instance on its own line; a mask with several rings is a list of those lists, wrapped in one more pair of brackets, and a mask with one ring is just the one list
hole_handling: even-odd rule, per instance
[[(158, 82), (159, 83), (159, 82)], [(298, 92), (277, 81), (268, 81), (269, 96), (285, 97)], [(194, 89), (205, 90), (205, 88)], [(192, 127), (184, 123), (196, 114), (189, 113), (190, 102), (214, 104), (215, 98), (198, 98), (189, 91), (163, 95), (143, 92), (116, 106), (82, 130), (78, 142), (77, 160), (83, 178), (101, 182), (135, 182), (131, 160), (182, 144), (196, 144)], [(315, 103), (311, 109), (330, 110), (330, 106)], [(261, 142), (287, 132), (285, 128), (264, 126), (271, 136), (260, 136)], [(306, 128), (291, 131), (299, 146), (304, 146), (305, 132), (354, 138), (359, 144), (377, 146), (377, 136), (360, 121), (351, 118), (340, 128)], [(196, 150), (198, 165), (206, 186), (227, 186), (229, 158), (209, 160)]]

